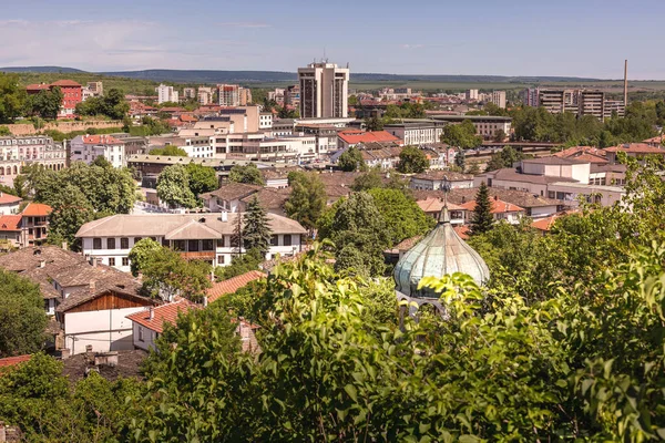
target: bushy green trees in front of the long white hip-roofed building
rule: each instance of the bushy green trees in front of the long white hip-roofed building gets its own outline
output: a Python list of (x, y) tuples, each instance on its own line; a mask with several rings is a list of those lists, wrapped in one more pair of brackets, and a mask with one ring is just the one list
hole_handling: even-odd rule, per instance
[(211, 287), (211, 266), (185, 260), (177, 251), (162, 247), (140, 265), (143, 289), (151, 297), (173, 300), (174, 296), (201, 301)]

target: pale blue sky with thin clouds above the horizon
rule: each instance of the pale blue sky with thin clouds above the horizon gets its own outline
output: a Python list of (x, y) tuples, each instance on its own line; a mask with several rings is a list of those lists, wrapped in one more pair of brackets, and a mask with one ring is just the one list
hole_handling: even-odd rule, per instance
[(0, 66), (665, 79), (664, 0), (0, 0)]

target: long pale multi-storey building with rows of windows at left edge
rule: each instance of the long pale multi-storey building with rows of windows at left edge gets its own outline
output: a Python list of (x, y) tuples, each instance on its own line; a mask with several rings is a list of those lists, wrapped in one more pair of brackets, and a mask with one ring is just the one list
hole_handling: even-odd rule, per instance
[(51, 171), (66, 167), (66, 150), (44, 135), (0, 136), (0, 184), (12, 186), (23, 166), (39, 164)]

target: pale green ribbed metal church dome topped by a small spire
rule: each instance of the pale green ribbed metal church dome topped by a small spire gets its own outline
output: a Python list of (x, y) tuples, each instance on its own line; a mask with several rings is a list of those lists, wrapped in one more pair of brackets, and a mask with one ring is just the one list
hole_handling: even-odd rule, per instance
[(443, 207), (437, 227), (397, 262), (393, 271), (396, 290), (408, 297), (436, 299), (439, 297), (431, 289), (418, 290), (420, 280), (454, 272), (468, 274), (478, 285), (490, 279), (488, 265), (454, 231), (448, 208)]

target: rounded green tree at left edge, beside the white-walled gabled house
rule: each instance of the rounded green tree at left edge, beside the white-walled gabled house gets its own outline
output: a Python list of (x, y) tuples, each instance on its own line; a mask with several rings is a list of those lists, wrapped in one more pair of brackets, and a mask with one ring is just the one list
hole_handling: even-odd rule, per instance
[(39, 286), (0, 269), (0, 358), (38, 352), (47, 323)]

